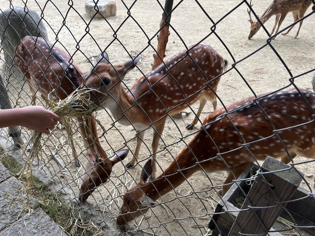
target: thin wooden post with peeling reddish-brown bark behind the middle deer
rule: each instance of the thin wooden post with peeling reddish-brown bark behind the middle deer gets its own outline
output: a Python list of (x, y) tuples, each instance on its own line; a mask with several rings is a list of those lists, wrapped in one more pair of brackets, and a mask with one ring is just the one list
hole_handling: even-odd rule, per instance
[(169, 22), (171, 20), (171, 10), (173, 8), (173, 0), (166, 0), (162, 20), (160, 22), (160, 32), (157, 37), (157, 53), (153, 55), (154, 63), (152, 70), (157, 68), (162, 63), (165, 57), (166, 44), (169, 41)]

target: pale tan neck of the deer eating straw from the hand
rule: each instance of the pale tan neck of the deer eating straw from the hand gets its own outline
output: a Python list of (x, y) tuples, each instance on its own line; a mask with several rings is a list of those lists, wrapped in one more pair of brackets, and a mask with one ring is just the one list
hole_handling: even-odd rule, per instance
[[(115, 96), (117, 95), (117, 96)], [(139, 119), (141, 110), (135, 105), (135, 98), (126, 93), (122, 86), (119, 86), (117, 94), (112, 94), (107, 108), (111, 111), (113, 118), (122, 125), (130, 125)]]

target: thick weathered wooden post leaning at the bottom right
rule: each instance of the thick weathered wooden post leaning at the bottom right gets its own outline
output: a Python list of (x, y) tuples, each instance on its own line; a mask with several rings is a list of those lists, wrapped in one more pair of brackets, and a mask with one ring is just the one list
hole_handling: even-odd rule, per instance
[[(261, 167), (264, 173), (290, 168), (272, 157), (267, 157)], [(236, 223), (234, 222), (228, 236), (238, 236), (239, 232), (266, 235), (286, 206), (286, 203), (281, 202), (291, 199), (301, 181), (301, 175), (294, 168), (257, 177), (241, 209), (247, 209), (249, 206), (254, 208), (238, 213)]]

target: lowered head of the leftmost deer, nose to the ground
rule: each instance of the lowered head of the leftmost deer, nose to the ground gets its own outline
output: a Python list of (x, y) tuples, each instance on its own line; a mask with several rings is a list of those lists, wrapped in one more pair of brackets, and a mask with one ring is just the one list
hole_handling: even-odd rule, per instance
[(95, 188), (106, 183), (111, 175), (112, 167), (127, 156), (129, 150), (120, 150), (112, 158), (101, 160), (90, 149), (88, 150), (89, 160), (85, 164), (84, 173), (81, 177), (79, 200), (86, 200), (93, 193)]

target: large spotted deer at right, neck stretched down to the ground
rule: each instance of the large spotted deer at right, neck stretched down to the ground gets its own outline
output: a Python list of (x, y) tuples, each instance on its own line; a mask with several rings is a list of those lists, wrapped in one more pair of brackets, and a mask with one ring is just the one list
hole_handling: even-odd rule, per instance
[(145, 165), (138, 186), (123, 196), (117, 223), (124, 225), (145, 214), (150, 206), (157, 205), (157, 199), (196, 171), (227, 171), (224, 195), (250, 162), (269, 155), (289, 162), (290, 153), (314, 159), (315, 94), (307, 90), (301, 90), (301, 94), (296, 90), (281, 91), (244, 99), (228, 106), (227, 112), (224, 108), (215, 110), (203, 121), (188, 147), (156, 180), (147, 182), (152, 168), (150, 163)]

